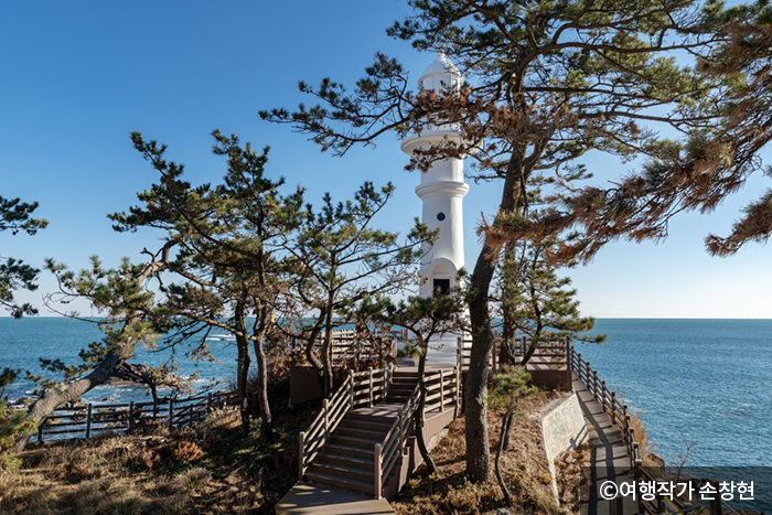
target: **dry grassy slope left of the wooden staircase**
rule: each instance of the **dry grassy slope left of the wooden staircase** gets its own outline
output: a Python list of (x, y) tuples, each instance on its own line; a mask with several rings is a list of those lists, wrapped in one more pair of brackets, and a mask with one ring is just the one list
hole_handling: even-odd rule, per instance
[(297, 428), (311, 410), (277, 399), (277, 438), (245, 434), (235, 409), (178, 434), (159, 428), (88, 442), (47, 443), (0, 472), (0, 513), (272, 513), (297, 479)]

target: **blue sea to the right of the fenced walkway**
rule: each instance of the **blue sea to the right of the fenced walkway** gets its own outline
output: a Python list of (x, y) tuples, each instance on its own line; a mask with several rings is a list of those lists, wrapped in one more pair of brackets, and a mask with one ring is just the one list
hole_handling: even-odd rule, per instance
[(656, 452), (691, 466), (772, 465), (772, 320), (598, 320), (577, 350), (642, 418)]

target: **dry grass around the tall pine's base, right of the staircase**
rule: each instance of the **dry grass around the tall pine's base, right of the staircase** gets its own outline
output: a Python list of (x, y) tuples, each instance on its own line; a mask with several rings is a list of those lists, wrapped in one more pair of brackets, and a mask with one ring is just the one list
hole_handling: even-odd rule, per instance
[[(557, 396), (540, 391), (528, 399), (526, 414), (537, 412)], [(490, 442), (492, 451), (498, 444), (498, 429), (503, 411), (490, 411)], [(505, 506), (501, 489), (492, 482), (473, 484), (464, 475), (467, 446), (464, 419), (455, 420), (449, 432), (432, 451), (440, 470), (438, 478), (427, 476), (421, 468), (392, 503), (399, 514), (481, 514), (505, 508), (516, 514), (562, 514), (553, 497), (547, 457), (542, 446), (542, 431), (527, 416), (513, 422), (510, 450), (502, 457), (505, 481), (514, 497), (513, 506)]]

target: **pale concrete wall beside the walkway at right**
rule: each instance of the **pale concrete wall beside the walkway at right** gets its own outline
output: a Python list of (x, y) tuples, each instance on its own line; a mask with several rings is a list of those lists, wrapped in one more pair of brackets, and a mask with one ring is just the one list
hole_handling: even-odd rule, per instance
[(553, 476), (553, 494), (558, 498), (555, 458), (573, 449), (589, 438), (585, 416), (575, 393), (554, 400), (535, 416), (542, 427), (544, 451)]

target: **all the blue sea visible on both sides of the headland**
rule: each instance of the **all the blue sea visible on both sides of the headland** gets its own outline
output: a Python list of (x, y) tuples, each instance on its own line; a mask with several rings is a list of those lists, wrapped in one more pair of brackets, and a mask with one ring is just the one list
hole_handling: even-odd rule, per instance
[[(772, 320), (598, 319), (604, 344), (577, 351), (600, 378), (640, 411), (655, 452), (668, 464), (772, 466)], [(215, 361), (194, 362), (190, 348), (142, 350), (137, 362), (173, 358), (179, 373), (196, 374), (194, 388), (233, 384), (236, 348), (223, 335), (208, 343)], [(0, 318), (0, 367), (40, 374), (39, 358), (77, 363), (98, 341), (98, 329), (64, 318)], [(223, 386), (225, 385), (225, 386)], [(24, 380), (7, 389), (29, 396)], [(90, 401), (146, 398), (139, 386), (101, 386)]]

